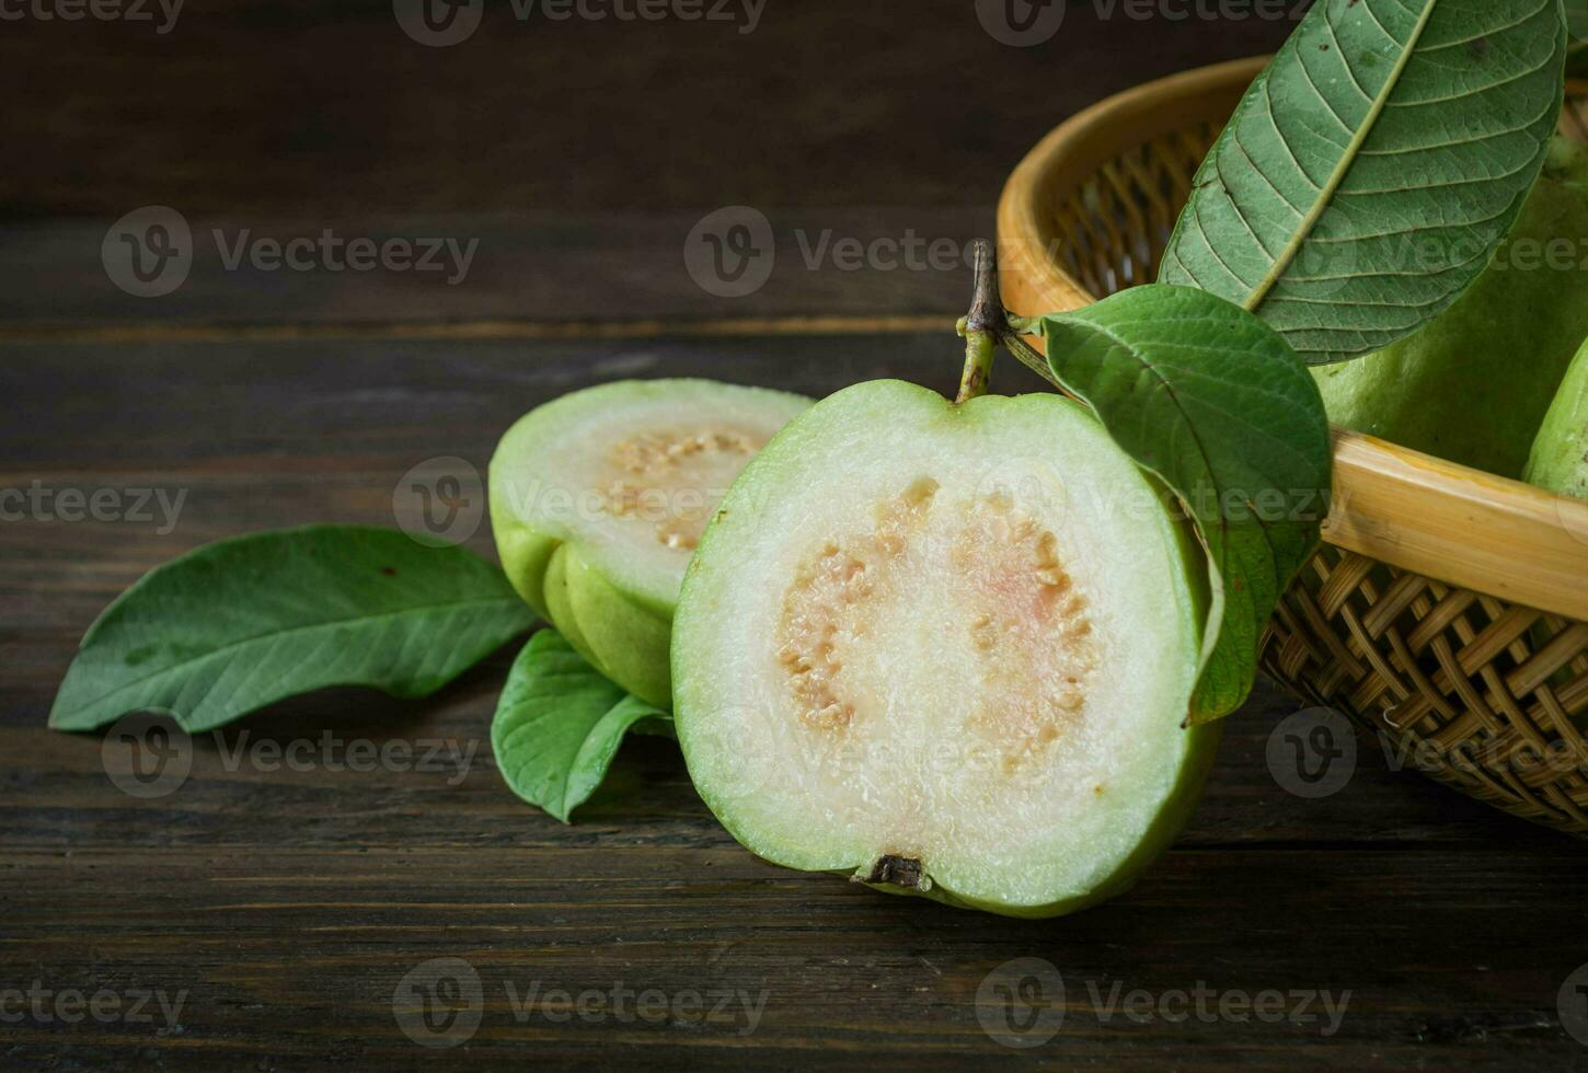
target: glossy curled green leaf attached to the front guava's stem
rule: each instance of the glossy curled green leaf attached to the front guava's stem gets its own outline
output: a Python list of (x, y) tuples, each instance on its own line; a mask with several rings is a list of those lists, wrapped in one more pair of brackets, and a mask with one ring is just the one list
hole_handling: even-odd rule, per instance
[(1251, 692), (1262, 627), (1328, 513), (1318, 386), (1278, 332), (1191, 287), (1131, 287), (1035, 327), (1059, 383), (1196, 522), (1212, 608), (1189, 721), (1226, 716)]

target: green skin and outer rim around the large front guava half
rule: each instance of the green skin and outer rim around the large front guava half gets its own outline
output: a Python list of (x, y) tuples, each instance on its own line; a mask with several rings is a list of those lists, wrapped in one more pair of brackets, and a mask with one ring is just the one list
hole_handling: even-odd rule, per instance
[[(713, 562), (713, 557), (719, 554), (726, 552), (730, 556), (734, 543), (743, 540), (743, 533), (727, 524), (729, 516), (735, 514), (743, 522), (745, 517), (754, 513), (757, 502), (777, 498), (780, 490), (777, 484), (778, 467), (781, 467), (783, 457), (800, 454), (818, 437), (831, 437), (832, 429), (823, 429), (821, 425), (824, 416), (832, 411), (834, 405), (845, 405), (845, 400), (853, 402), (858, 398), (869, 402), (875, 417), (865, 421), (862, 427), (851, 429), (851, 435), (856, 440), (861, 437), (886, 437), (891, 443), (907, 440), (912, 435), (910, 422), (918, 416), (924, 416), (926, 421), (935, 421), (943, 414), (953, 414), (953, 419), (959, 421), (966, 429), (975, 429), (983, 422), (986, 425), (997, 425), (1000, 421), (1007, 422), (1013, 414), (1021, 411), (1031, 413), (1042, 408), (1062, 406), (1069, 414), (1067, 421), (1073, 421), (1073, 416), (1081, 416), (1088, 422), (1088, 427), (1097, 430), (1099, 441), (1105, 444), (1105, 449), (1116, 452), (1135, 471), (1134, 463), (1129, 463), (1129, 459), (1112, 441), (1107, 441), (1105, 433), (1100, 432), (1100, 425), (1096, 424), (1096, 419), (1089, 413), (1073, 402), (1051, 394), (1013, 398), (983, 395), (956, 406), (935, 392), (915, 384), (872, 381), (848, 387), (789, 422), (740, 475), (738, 483), (735, 483), (723, 502), (716, 519), (707, 527), (684, 578), (672, 651), (673, 711), (678, 741), (697, 790), (702, 794), (702, 800), (705, 800), (707, 806), (711, 808), (729, 833), (754, 856), (780, 867), (843, 876), (885, 894), (923, 897), (953, 908), (978, 910), (1024, 919), (1075, 913), (1123, 894), (1174, 843), (1194, 813), (1207, 775), (1216, 757), (1223, 733), (1221, 724), (1183, 727), (1186, 716), (1183, 708), (1162, 713), (1167, 733), (1180, 733), (1185, 738), (1178, 743), (1178, 751), (1175, 752), (1177, 767), (1172, 781), (1167, 783), (1167, 789), (1153, 789), (1151, 819), (1127, 851), (1123, 851), (1118, 857), (1104, 857), (1097, 863), (1099, 875), (1096, 881), (1089, 883), (1085, 889), (1066, 889), (1059, 897), (1050, 900), (1010, 902), (956, 890), (932, 871), (932, 860), (929, 859), (902, 860), (907, 865), (907, 878), (904, 881), (880, 878), (888, 875), (886, 870), (878, 871), (881, 863), (899, 859), (891, 859), (886, 854), (872, 859), (837, 859), (838, 856), (829, 846), (823, 846), (823, 832), (816, 830), (792, 841), (783, 836), (769, 836), (754, 822), (746, 822), (746, 816), (730, 800), (732, 795), (729, 795), (729, 800), (724, 800), (715, 792), (716, 787), (711, 786), (710, 778), (702, 779), (711, 768), (711, 757), (707, 756), (707, 751), (719, 748), (721, 741), (702, 722), (708, 719), (705, 713), (711, 705), (710, 692), (703, 687), (703, 683), (716, 678), (718, 671), (715, 667), (710, 667), (707, 651), (689, 651), (689, 644), (703, 636), (702, 633), (696, 633), (697, 627), (713, 621), (721, 622), (730, 613), (718, 598), (716, 590), (711, 587), (713, 583), (707, 579), (707, 563)], [(885, 421), (892, 422), (892, 427), (881, 429)], [(1059, 429), (1059, 432), (1064, 430)], [(1143, 479), (1148, 478), (1143, 476)], [(1185, 524), (1167, 521), (1167, 516), (1164, 524), (1172, 533), (1170, 557), (1175, 560), (1175, 568), (1180, 575), (1178, 590), (1174, 598), (1181, 600), (1185, 606), (1186, 640), (1194, 662), (1194, 652), (1199, 649), (1201, 641), (1201, 629), (1210, 606), (1205, 559), (1194, 533)], [(1167, 592), (1164, 598), (1170, 598)], [(751, 627), (746, 625), (745, 629)], [(1166, 659), (1174, 657), (1166, 654)], [(1185, 700), (1189, 698), (1189, 684), (1188, 681), (1185, 687)], [(1134, 833), (1135, 829), (1132, 827)], [(916, 883), (915, 873), (923, 873), (927, 883)]]

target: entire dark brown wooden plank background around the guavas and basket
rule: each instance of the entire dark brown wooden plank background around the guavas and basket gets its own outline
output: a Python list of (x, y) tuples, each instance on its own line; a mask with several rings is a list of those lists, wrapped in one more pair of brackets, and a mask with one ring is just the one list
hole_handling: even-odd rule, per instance
[[(391, 524), (399, 476), (483, 470), (524, 410), (619, 376), (824, 394), (896, 375), (948, 389), (964, 270), (810, 270), (799, 241), (988, 233), (1002, 178), (1051, 124), (1132, 83), (1274, 48), (1288, 22), (1099, 19), (992, 41), (972, 0), (769, 0), (711, 24), (521, 24), (427, 49), (387, 3), (192, 0), (125, 22), (0, 24), (0, 487), (186, 492), (156, 524), (0, 524), (0, 998), (186, 990), (179, 1027), (64, 1024), (0, 1003), (6, 1068), (411, 1068), (432, 1062), (1577, 1068), (1558, 990), (1588, 960), (1588, 854), (1413, 773), (1372, 741), (1307, 802), (1266, 763), (1296, 703), (1267, 684), (1228, 724), (1207, 798), (1129, 895), (1046, 922), (885, 898), (742, 851), (665, 741), (627, 744), (572, 827), (489, 760), (511, 652), (426, 703), (335, 690), (224, 732), (227, 748), (448, 740), (456, 771), (227, 770), (119, 792), (100, 738), (44, 729), (83, 630), (143, 571), (218, 536)], [(162, 298), (118, 290), (100, 240), (143, 205), (195, 233), (480, 240), (467, 279), (227, 271), (200, 243)], [(767, 286), (705, 294), (681, 248), (750, 205)], [(1007, 390), (1029, 379), (1007, 363)], [(489, 532), (472, 544), (489, 554)], [(1148, 654), (1143, 654), (1148, 657)], [(392, 995), (427, 959), (484, 989), (432, 1052)], [(977, 992), (1012, 959), (1067, 984), (1048, 1043), (999, 1046)], [(507, 986), (765, 992), (745, 1021), (519, 1021)], [(1321, 1022), (1105, 1019), (1089, 997), (1348, 990)], [(565, 1000), (562, 1000), (565, 1003)], [(634, 1000), (630, 1000), (634, 1002)], [(151, 1006), (152, 1010), (152, 1006)], [(983, 1013), (986, 1010), (983, 1008)]]

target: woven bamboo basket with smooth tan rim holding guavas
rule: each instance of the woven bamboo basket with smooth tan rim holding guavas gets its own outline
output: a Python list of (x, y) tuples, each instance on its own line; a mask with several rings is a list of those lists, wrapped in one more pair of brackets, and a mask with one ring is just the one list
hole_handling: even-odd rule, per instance
[[(1207, 149), (1264, 57), (1164, 78), (1053, 130), (999, 205), (1019, 314), (1156, 276)], [(1563, 132), (1588, 141), (1588, 83)], [(1262, 641), (1304, 703), (1480, 802), (1588, 836), (1588, 503), (1334, 430), (1324, 543)]]

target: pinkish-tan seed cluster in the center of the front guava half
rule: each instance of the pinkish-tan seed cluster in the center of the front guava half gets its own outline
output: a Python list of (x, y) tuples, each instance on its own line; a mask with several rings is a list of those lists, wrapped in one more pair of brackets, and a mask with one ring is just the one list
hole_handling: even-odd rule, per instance
[(1058, 538), (1005, 492), (950, 498), (931, 476), (870, 516), (804, 556), (783, 594), (777, 659), (799, 721), (842, 736), (888, 719), (877, 635), (908, 627), (923, 584), (946, 587), (962, 673), (978, 683), (964, 729), (1013, 775), (1083, 717), (1099, 662)]

